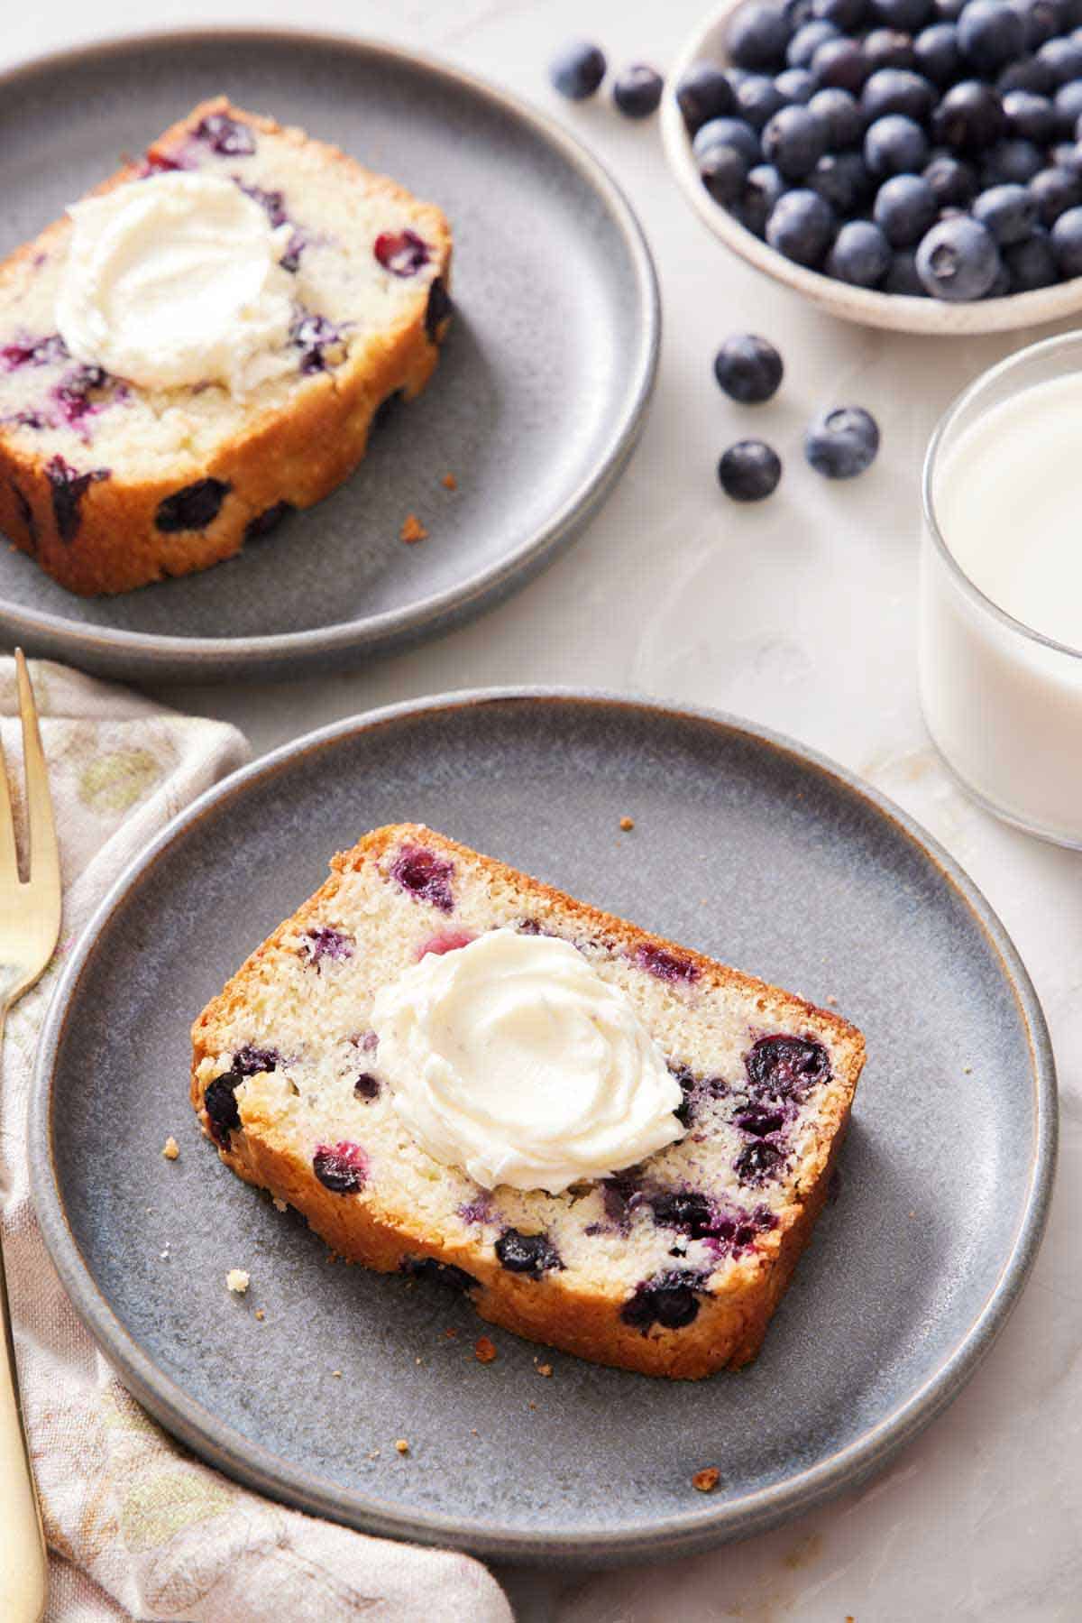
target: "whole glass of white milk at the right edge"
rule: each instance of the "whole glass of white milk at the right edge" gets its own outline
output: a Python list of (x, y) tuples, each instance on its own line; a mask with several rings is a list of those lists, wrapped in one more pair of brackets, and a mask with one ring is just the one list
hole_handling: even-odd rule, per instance
[(1082, 333), (970, 385), (923, 497), (928, 730), (990, 812), (1082, 847)]

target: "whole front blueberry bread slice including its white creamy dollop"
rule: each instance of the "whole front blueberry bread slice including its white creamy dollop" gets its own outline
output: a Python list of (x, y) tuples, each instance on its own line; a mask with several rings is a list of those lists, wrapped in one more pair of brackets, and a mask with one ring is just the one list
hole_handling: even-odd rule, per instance
[[(547, 953), (527, 962), (530, 941)], [(193, 1047), (222, 1160), (336, 1253), (440, 1279), (534, 1341), (681, 1378), (759, 1350), (865, 1058), (839, 1016), (420, 824), (337, 855)], [(530, 1078), (565, 1058), (577, 1105), (558, 1118)]]

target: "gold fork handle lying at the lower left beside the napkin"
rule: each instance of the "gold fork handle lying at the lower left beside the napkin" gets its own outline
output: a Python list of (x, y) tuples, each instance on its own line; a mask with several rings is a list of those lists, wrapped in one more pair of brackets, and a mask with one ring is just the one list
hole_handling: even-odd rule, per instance
[(8, 1285), (0, 1248), (0, 1617), (39, 1623), (45, 1615), (49, 1565), (11, 1342)]

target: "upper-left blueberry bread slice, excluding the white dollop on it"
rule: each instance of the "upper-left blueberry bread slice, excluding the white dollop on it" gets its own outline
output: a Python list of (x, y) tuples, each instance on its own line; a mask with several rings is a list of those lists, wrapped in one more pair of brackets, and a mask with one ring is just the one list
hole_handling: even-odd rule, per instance
[(277, 232), (292, 316), (258, 388), (148, 388), (76, 360), (57, 321), (70, 216), (0, 266), (0, 529), (84, 596), (203, 570), (326, 497), (378, 407), (425, 386), (449, 320), (438, 208), (224, 97), (92, 195), (188, 172)]

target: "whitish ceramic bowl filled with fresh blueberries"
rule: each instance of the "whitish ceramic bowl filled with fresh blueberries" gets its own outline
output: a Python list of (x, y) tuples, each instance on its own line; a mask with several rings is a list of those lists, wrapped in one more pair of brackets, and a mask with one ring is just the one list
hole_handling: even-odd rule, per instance
[(832, 315), (1082, 310), (1082, 0), (725, 0), (662, 131), (711, 230)]

